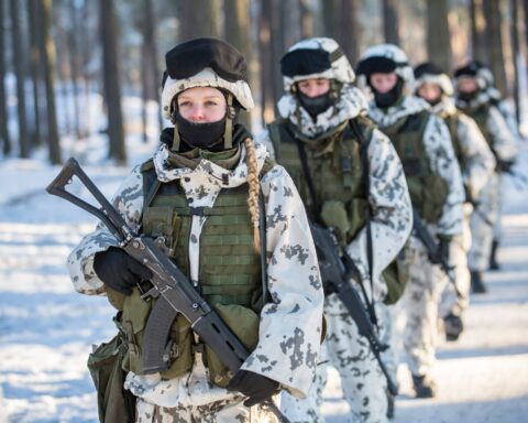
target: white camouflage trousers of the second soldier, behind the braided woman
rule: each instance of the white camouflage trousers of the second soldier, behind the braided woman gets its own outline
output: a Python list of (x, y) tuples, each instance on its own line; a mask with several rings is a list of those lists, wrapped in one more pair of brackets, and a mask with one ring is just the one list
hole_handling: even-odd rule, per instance
[[(327, 301), (340, 300), (332, 294)], [(380, 315), (380, 312), (377, 314)], [(350, 413), (343, 422), (387, 422), (387, 384), (367, 340), (360, 336), (350, 314), (326, 314), (324, 316), (328, 333), (321, 346), (320, 362), (328, 361), (338, 370), (341, 378), (343, 397), (350, 406)], [(383, 333), (383, 328), (380, 332)], [(320, 405), (326, 382), (327, 367), (320, 365), (307, 399), (299, 400), (283, 393), (280, 409), (292, 423), (324, 421)]]

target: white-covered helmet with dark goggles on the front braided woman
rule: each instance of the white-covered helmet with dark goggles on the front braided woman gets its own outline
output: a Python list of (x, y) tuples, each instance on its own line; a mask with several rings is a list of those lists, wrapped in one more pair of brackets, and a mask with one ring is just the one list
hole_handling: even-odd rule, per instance
[(196, 39), (178, 44), (165, 54), (165, 63), (162, 107), (166, 119), (170, 119), (173, 98), (194, 87), (222, 88), (245, 110), (254, 107), (245, 58), (224, 41)]

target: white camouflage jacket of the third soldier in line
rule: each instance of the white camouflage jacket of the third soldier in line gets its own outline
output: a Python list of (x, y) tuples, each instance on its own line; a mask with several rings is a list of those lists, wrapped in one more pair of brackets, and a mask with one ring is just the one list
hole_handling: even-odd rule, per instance
[[(371, 101), (369, 116), (383, 128), (394, 124), (399, 119), (430, 109), (429, 105), (415, 96), (405, 96), (403, 101), (387, 110), (380, 109)], [(424, 132), (424, 149), (429, 158), (432, 172), (448, 183), (448, 197), (442, 216), (437, 225), (437, 234), (453, 236), (462, 234), (462, 205), (465, 198), (460, 166), (454, 156), (454, 150), (448, 127), (437, 116), (432, 115)]]

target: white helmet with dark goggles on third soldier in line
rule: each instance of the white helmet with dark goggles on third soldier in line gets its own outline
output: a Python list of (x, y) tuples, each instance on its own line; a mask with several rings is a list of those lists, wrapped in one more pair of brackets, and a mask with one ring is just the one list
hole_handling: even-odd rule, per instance
[(356, 70), (367, 80), (372, 74), (389, 74), (392, 72), (409, 85), (415, 79), (407, 55), (394, 44), (378, 44), (367, 48), (361, 57)]

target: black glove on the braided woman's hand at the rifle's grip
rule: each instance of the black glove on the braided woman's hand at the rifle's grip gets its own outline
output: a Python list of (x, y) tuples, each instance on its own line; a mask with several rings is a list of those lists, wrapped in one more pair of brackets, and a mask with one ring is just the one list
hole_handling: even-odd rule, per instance
[(96, 253), (94, 270), (105, 284), (124, 295), (130, 295), (142, 280), (153, 276), (147, 268), (116, 247)]

